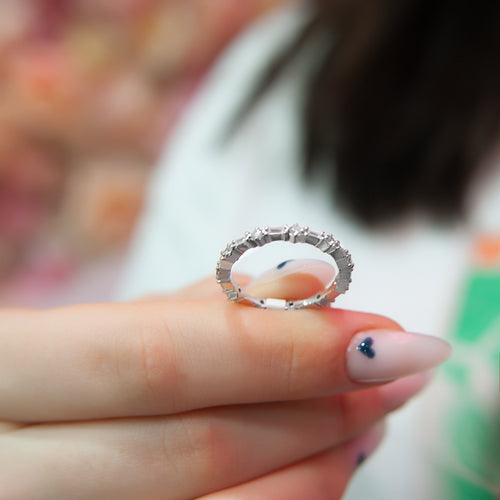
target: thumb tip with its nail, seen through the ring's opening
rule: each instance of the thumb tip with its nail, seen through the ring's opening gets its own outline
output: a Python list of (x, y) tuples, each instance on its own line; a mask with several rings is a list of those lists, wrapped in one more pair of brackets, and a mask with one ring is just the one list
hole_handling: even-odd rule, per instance
[(328, 287), (337, 271), (316, 259), (287, 260), (248, 283), (245, 291), (255, 297), (301, 300)]

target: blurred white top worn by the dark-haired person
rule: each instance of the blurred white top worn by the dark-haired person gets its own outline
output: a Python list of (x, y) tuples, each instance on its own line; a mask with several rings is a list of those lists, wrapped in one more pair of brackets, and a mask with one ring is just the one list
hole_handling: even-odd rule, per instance
[[(466, 270), (471, 232), (483, 219), (489, 227), (500, 221), (499, 176), (487, 189), (478, 188), (481, 203), (472, 228), (412, 220), (375, 232), (353, 224), (332, 207), (325, 183), (306, 186), (301, 178), (297, 113), (307, 55), (240, 133), (221, 143), (228, 118), (259, 71), (306, 18), (300, 4), (278, 11), (240, 37), (215, 66), (158, 165), (119, 298), (175, 290), (212, 275), (228, 241), (255, 226), (299, 222), (333, 233), (353, 255), (352, 286), (339, 307), (385, 314), (410, 331), (443, 335)], [(388, 438), (346, 498), (422, 498), (419, 402), (391, 417)]]

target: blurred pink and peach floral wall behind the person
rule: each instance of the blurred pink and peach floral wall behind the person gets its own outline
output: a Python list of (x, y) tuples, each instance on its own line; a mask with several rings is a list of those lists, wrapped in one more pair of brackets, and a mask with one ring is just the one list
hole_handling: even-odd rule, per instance
[(0, 2), (0, 306), (111, 296), (169, 131), (285, 1)]

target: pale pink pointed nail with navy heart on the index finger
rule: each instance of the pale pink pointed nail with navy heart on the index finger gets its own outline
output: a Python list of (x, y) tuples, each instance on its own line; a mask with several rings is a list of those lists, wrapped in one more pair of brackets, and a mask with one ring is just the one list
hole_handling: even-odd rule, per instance
[(437, 337), (392, 330), (369, 330), (352, 338), (347, 372), (355, 382), (385, 382), (427, 371), (451, 354)]

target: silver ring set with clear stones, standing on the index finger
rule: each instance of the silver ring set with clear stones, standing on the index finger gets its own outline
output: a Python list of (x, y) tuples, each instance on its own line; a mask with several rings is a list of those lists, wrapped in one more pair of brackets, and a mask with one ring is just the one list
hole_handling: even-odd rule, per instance
[[(261, 298), (248, 295), (241, 286), (232, 280), (232, 267), (247, 250), (262, 247), (274, 241), (306, 243), (329, 255), (338, 268), (333, 283), (328, 288), (301, 300)], [(216, 266), (216, 278), (217, 283), (220, 283), (229, 300), (250, 303), (264, 309), (292, 310), (305, 307), (329, 307), (330, 303), (349, 289), (353, 268), (351, 254), (342, 248), (331, 234), (317, 233), (311, 231), (308, 227), (294, 224), (293, 226), (256, 228), (253, 232), (247, 232), (243, 237), (233, 240), (221, 252), (221, 257)]]

